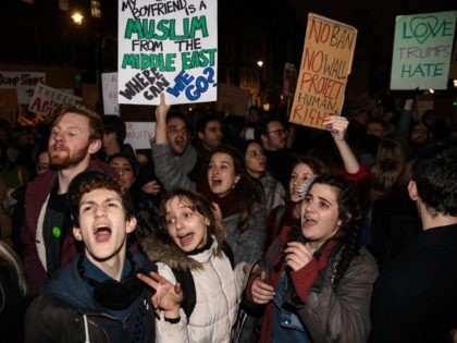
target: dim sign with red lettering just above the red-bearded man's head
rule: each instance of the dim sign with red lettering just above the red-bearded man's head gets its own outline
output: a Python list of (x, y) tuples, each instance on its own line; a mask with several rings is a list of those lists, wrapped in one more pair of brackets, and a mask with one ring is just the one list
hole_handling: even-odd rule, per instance
[(48, 117), (61, 105), (76, 105), (82, 100), (82, 98), (69, 94), (69, 91), (38, 84), (35, 87), (34, 96), (30, 100), (30, 105), (28, 106), (28, 110), (30, 112)]

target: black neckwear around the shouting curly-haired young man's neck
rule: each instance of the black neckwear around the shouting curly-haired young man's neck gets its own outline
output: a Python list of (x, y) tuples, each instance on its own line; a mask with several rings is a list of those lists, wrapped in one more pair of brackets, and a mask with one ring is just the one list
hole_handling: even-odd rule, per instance
[(97, 281), (86, 277), (83, 266), (84, 254), (81, 254), (77, 261), (77, 271), (79, 277), (94, 287), (92, 295), (96, 303), (109, 309), (122, 310), (127, 308), (140, 296), (146, 285), (136, 277), (136, 274), (138, 272), (145, 273), (145, 270), (136, 269), (136, 265), (131, 253), (127, 253), (127, 259), (131, 262), (132, 268), (128, 275), (123, 278), (123, 280)]

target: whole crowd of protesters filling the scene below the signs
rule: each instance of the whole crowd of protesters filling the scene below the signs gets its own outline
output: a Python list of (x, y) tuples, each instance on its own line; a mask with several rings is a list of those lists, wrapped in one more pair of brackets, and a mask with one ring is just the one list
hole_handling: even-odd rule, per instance
[(0, 121), (1, 341), (457, 342), (448, 115), (197, 115)]

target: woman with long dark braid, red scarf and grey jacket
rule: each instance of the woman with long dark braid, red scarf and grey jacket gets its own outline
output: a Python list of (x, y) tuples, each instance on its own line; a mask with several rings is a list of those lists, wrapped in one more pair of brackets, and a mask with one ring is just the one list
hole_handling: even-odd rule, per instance
[(378, 277), (360, 248), (362, 211), (338, 176), (313, 179), (300, 204), (300, 225), (285, 230), (246, 287), (265, 306), (261, 342), (366, 342)]

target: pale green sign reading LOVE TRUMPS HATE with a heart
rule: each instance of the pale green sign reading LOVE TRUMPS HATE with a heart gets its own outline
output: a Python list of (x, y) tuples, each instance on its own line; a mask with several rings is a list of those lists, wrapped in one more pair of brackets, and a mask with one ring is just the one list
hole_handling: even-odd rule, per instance
[(446, 89), (457, 12), (398, 15), (391, 89)]

